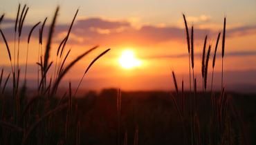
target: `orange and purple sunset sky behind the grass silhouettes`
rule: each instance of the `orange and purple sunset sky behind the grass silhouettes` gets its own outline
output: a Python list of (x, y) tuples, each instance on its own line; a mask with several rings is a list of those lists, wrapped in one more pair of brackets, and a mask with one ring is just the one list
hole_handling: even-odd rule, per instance
[[(170, 0), (45, 0), (45, 1), (8, 1), (0, 0), (0, 14), (5, 17), (0, 25), (13, 52), (14, 23), (18, 4), (30, 8), (24, 22), (21, 37), (21, 70), (26, 62), (26, 39), (28, 32), (38, 21), (46, 22), (44, 43), (47, 39), (48, 25), (53, 19), (55, 8), (60, 6), (57, 26), (53, 38), (51, 59), (55, 61), (57, 46), (66, 36), (75, 11), (79, 8), (77, 19), (68, 39), (66, 52), (71, 49), (66, 63), (89, 48), (100, 47), (91, 52), (62, 81), (74, 86), (82, 77), (86, 66), (100, 52), (111, 51), (98, 60), (82, 81), (82, 88), (99, 90), (102, 88), (121, 88), (123, 90), (172, 90), (172, 70), (176, 72), (179, 86), (181, 80), (188, 89), (189, 66), (188, 48), (182, 14), (188, 26), (194, 26), (194, 74), (201, 86), (201, 54), (203, 39), (208, 35), (208, 44), (215, 47), (218, 32), (223, 30), (223, 17), (226, 25), (226, 54), (224, 57), (224, 85), (230, 90), (256, 90), (256, 1), (170, 1)], [(35, 29), (30, 43), (28, 59), (28, 79), (35, 84), (37, 79), (38, 28)], [(221, 35), (222, 37), (222, 35)], [(8, 70), (8, 53), (0, 38), (1, 66)], [(123, 68), (120, 57), (129, 50), (134, 53), (140, 65)], [(212, 51), (213, 52), (213, 51)], [(211, 53), (208, 81), (212, 77)], [(214, 68), (214, 89), (219, 90), (221, 78), (221, 41), (217, 50)], [(131, 62), (131, 61), (129, 61)], [(54, 67), (53, 67), (54, 68)], [(9, 70), (10, 71), (10, 70)], [(53, 73), (53, 69), (50, 72)], [(22, 72), (21, 72), (22, 74)], [(8, 72), (5, 73), (5, 76)], [(33, 85), (31, 85), (33, 87)], [(210, 87), (210, 84), (209, 84)], [(208, 88), (209, 89), (209, 88)]]

